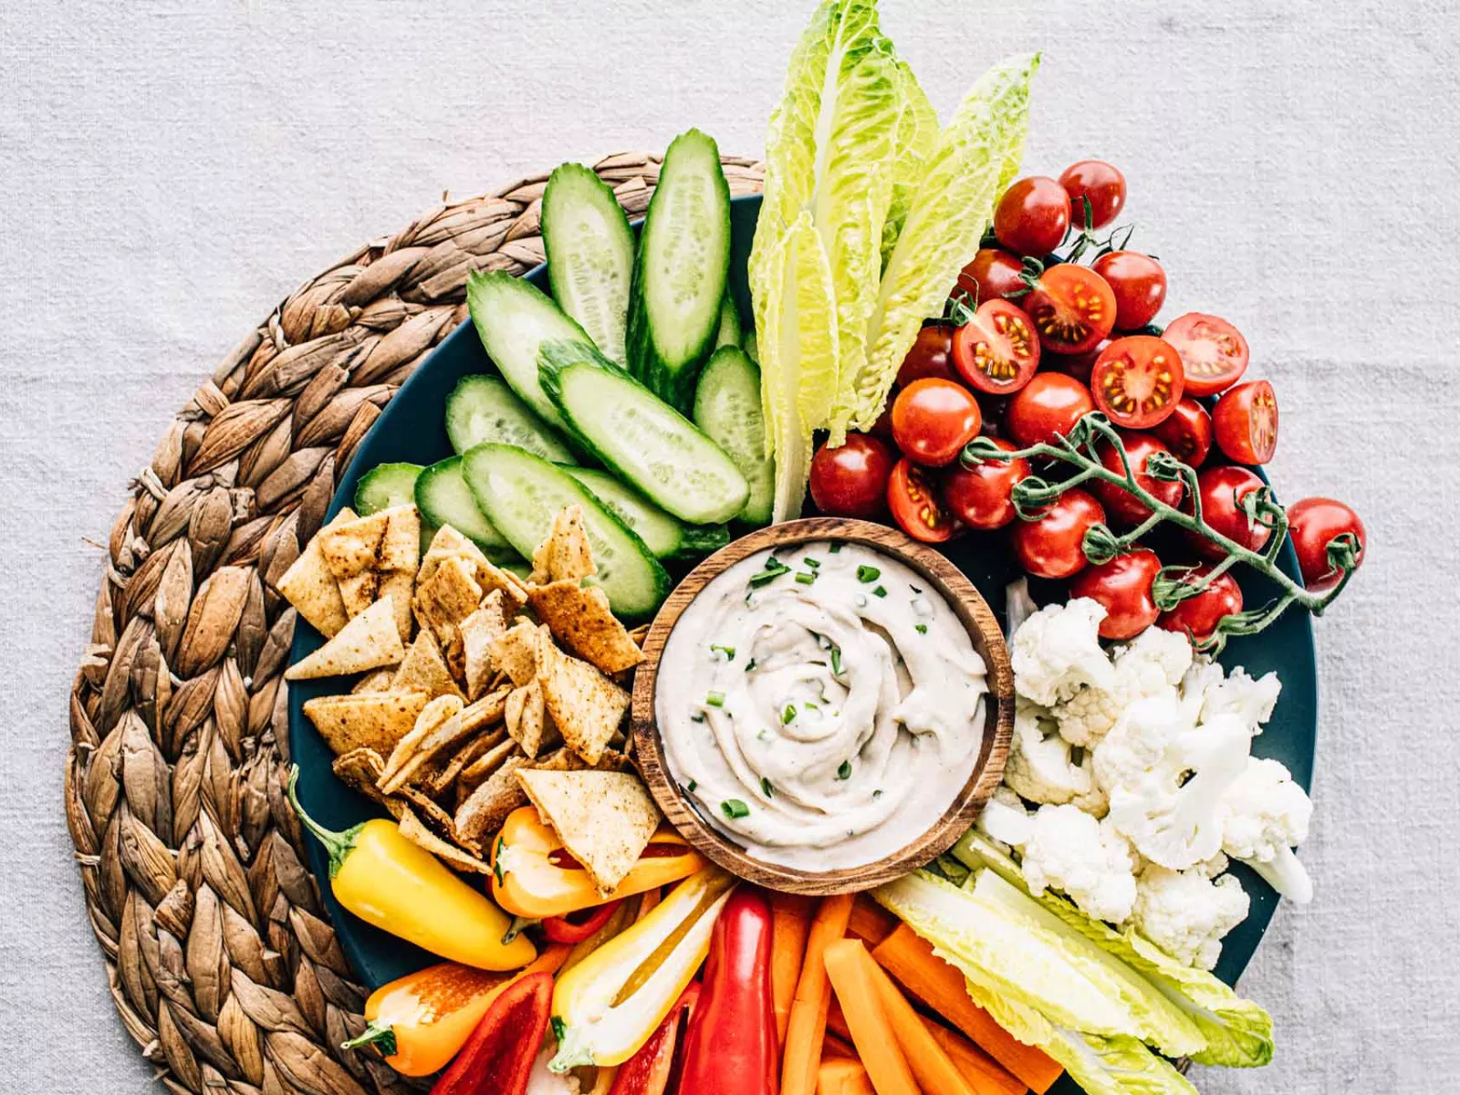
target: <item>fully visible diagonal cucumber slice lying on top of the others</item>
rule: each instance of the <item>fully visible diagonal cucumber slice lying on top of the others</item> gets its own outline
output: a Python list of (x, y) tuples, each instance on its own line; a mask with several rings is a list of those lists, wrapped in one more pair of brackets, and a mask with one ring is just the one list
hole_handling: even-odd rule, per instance
[(750, 486), (714, 441), (585, 343), (549, 342), (542, 384), (574, 437), (620, 479), (682, 521), (729, 521)]

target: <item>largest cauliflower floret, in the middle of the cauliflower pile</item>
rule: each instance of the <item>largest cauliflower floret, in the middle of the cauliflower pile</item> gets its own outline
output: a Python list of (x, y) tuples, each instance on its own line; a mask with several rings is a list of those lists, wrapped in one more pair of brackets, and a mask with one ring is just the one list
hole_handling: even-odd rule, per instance
[(1183, 714), (1175, 692), (1137, 699), (1095, 749), (1094, 765), (1110, 794), (1111, 825), (1171, 870), (1221, 850), (1222, 797), (1247, 769), (1251, 748), (1235, 715), (1193, 726)]

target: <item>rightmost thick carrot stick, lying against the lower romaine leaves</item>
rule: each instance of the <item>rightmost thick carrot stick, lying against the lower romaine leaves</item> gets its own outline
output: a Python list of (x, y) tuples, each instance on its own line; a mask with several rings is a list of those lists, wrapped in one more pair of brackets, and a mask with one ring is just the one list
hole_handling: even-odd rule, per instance
[(968, 996), (964, 975), (933, 953), (933, 946), (907, 924), (872, 952), (877, 965), (937, 1015), (967, 1034), (1038, 1095), (1044, 1095), (1063, 1069), (1042, 1050), (1025, 1045), (1004, 1031)]

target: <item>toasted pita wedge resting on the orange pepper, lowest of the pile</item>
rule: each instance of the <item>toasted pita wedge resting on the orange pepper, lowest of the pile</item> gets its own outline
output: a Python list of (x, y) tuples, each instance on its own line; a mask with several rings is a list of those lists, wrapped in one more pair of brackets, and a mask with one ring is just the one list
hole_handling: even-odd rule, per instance
[(545, 823), (607, 896), (638, 861), (660, 815), (632, 772), (545, 772), (518, 769)]

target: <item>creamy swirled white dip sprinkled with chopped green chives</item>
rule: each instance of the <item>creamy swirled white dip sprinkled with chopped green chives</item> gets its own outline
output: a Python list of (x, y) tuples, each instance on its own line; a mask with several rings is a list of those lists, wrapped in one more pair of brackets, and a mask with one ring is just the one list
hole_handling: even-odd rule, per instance
[(670, 775), (768, 863), (858, 867), (930, 829), (983, 740), (984, 661), (929, 581), (853, 542), (756, 552), (670, 632)]

